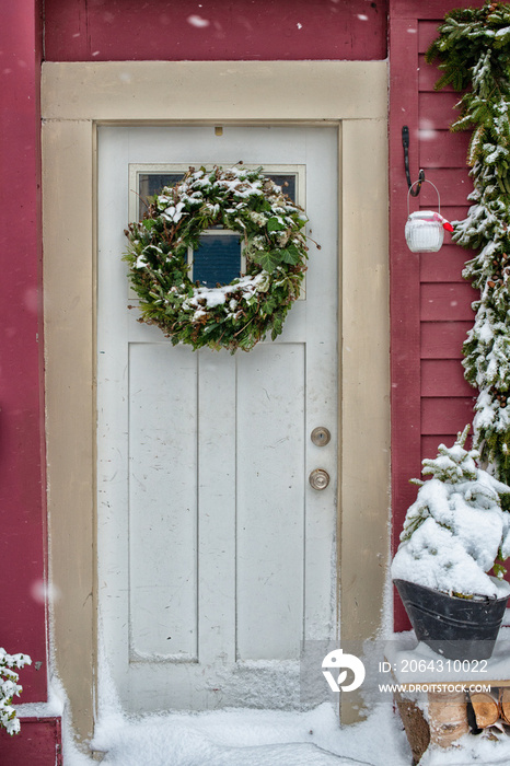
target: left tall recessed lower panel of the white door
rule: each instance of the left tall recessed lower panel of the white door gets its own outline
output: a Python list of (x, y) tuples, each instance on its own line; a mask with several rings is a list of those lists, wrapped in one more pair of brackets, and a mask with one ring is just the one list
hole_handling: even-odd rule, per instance
[(195, 660), (197, 359), (129, 345), (129, 616), (132, 660)]

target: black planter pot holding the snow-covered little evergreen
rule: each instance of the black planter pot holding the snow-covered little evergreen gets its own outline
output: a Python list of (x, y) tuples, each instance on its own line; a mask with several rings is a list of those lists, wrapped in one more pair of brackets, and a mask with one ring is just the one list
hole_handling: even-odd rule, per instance
[(474, 601), (394, 580), (416, 637), (450, 660), (487, 660), (494, 650), (507, 601)]

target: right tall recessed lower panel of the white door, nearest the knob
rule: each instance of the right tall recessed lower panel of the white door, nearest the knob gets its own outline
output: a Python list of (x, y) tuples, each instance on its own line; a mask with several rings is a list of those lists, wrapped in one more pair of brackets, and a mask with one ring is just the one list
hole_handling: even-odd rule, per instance
[(297, 659), (303, 640), (304, 361), (268, 344), (239, 362), (240, 660)]

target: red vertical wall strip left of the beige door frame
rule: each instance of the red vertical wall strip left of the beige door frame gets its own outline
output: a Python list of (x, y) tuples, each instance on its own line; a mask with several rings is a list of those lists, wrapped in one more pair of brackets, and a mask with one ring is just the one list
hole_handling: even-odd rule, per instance
[[(23, 703), (46, 700), (42, 51), (38, 0), (2, 3), (0, 24), (0, 646), (26, 652)], [(36, 664), (37, 663), (37, 666)], [(39, 668), (37, 670), (36, 668)]]

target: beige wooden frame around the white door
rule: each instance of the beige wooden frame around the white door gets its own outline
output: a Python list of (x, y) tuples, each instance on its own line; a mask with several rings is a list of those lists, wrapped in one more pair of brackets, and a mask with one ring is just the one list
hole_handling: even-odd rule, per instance
[[(46, 439), (54, 666), (79, 739), (96, 683), (95, 260), (101, 124), (337, 125), (339, 581), (344, 640), (381, 627), (389, 548), (387, 71), (384, 61), (43, 66)], [(349, 706), (343, 720), (352, 718)]]

